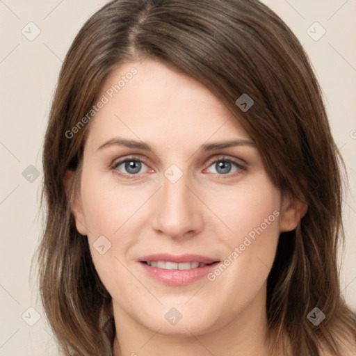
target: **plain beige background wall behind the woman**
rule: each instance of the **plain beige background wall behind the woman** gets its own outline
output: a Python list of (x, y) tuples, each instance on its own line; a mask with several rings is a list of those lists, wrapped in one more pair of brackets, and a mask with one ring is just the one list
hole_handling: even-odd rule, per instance
[[(106, 2), (0, 0), (3, 356), (57, 355), (56, 342), (36, 295), (36, 280), (29, 279), (31, 258), (42, 229), (38, 212), (42, 140), (65, 53), (86, 19)], [(344, 202), (346, 251), (342, 255), (341, 285), (346, 299), (356, 309), (356, 1), (264, 2), (291, 27), (309, 54), (325, 93), (334, 138), (346, 161), (350, 188)], [(323, 29), (325, 35), (316, 40)], [(30, 41), (28, 38), (32, 39), (36, 31), (40, 34)], [(35, 168), (28, 168), (29, 165)], [(37, 171), (39, 177), (35, 175)]]

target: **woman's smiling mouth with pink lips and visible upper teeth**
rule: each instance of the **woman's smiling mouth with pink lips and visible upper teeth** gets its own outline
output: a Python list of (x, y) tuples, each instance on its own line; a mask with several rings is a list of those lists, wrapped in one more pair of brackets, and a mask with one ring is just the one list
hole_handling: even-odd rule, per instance
[(220, 263), (197, 254), (152, 254), (138, 259), (145, 275), (169, 286), (192, 284), (206, 276)]

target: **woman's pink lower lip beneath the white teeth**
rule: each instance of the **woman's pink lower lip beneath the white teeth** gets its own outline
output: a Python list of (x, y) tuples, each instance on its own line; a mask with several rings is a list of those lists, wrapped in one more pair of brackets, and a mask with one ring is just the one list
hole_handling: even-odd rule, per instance
[(200, 280), (211, 272), (211, 270), (216, 268), (219, 263), (220, 262), (214, 262), (213, 264), (191, 268), (190, 270), (165, 270), (164, 268), (152, 267), (143, 262), (139, 262), (147, 275), (169, 286), (185, 286), (186, 284)]

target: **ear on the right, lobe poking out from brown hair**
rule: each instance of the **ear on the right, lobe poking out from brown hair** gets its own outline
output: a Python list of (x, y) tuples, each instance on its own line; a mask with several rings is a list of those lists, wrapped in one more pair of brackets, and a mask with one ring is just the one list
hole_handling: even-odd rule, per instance
[(307, 213), (307, 204), (291, 194), (283, 193), (281, 206), (280, 232), (296, 229), (302, 217)]

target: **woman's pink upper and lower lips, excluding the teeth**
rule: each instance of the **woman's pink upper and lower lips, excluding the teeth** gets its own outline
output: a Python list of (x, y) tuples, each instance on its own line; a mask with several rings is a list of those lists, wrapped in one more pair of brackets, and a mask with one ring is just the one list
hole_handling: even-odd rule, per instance
[[(172, 261), (177, 263), (195, 261), (209, 265), (192, 268), (190, 270), (165, 270), (163, 268), (148, 266), (143, 261)], [(163, 282), (169, 286), (184, 286), (205, 277), (211, 270), (218, 266), (220, 261), (209, 257), (199, 256), (197, 254), (184, 254), (181, 256), (174, 256), (172, 254), (150, 254), (149, 256), (138, 259), (138, 262), (145, 273), (155, 280)]]

